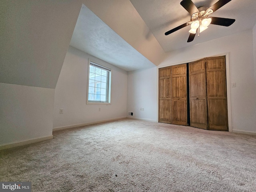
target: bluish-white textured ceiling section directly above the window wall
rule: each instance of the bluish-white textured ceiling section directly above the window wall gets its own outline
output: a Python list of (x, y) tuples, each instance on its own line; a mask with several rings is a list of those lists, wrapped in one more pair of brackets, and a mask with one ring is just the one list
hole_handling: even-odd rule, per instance
[(70, 45), (126, 71), (155, 66), (84, 4)]

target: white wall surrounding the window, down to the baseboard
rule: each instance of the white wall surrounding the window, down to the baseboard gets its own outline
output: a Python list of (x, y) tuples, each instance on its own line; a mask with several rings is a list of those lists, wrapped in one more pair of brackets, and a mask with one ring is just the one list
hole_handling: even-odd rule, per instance
[[(86, 104), (88, 58), (111, 68), (110, 105)], [(127, 72), (70, 46), (55, 89), (53, 128), (125, 118), (126, 103)]]

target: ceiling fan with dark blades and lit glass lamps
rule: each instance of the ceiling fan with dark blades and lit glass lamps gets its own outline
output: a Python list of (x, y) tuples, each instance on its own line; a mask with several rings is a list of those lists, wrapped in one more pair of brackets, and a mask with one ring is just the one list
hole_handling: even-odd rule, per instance
[(221, 26), (230, 26), (232, 25), (235, 20), (228, 19), (228, 18), (220, 18), (220, 17), (208, 17), (210, 14), (230, 2), (231, 0), (219, 0), (210, 8), (207, 7), (199, 7), (197, 8), (196, 5), (192, 2), (192, 0), (182, 0), (180, 4), (190, 13), (191, 20), (186, 22), (172, 30), (169, 30), (165, 33), (165, 35), (169, 35), (181, 28), (184, 28), (188, 25), (191, 25), (191, 29), (189, 30), (190, 35), (188, 37), (187, 42), (192, 42), (196, 36), (196, 33), (199, 33), (206, 30), (210, 24), (214, 25), (221, 25)]

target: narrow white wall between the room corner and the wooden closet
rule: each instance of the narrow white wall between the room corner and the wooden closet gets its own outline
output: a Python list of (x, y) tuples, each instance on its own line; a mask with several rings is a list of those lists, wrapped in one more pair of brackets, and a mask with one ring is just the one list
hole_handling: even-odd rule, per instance
[(127, 113), (133, 118), (157, 121), (157, 94), (156, 67), (128, 72)]

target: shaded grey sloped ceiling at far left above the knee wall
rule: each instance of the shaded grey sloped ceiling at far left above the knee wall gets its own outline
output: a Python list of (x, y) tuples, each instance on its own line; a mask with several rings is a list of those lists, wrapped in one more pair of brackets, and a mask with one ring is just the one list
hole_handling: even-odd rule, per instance
[(0, 82), (55, 88), (81, 5), (1, 0)]

